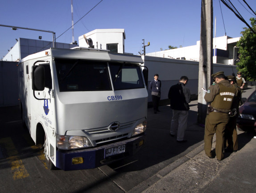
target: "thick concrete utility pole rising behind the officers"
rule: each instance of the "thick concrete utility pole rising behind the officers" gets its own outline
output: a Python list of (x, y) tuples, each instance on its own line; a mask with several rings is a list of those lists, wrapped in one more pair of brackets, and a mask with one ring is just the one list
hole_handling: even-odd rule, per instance
[(213, 39), (213, 9), (212, 0), (202, 0), (201, 35), (198, 71), (198, 123), (205, 124), (207, 104), (204, 100), (205, 91), (211, 85), (212, 74), (212, 39)]

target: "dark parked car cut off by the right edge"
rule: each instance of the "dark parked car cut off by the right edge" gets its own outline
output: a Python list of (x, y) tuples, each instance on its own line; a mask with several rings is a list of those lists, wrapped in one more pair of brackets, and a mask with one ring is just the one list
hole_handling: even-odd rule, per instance
[(239, 130), (256, 130), (256, 90), (240, 106), (236, 125)]

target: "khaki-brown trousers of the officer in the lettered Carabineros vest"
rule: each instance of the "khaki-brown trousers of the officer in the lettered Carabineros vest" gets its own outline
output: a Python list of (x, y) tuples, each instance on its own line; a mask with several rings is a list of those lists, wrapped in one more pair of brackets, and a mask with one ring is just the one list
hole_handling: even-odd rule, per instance
[(204, 151), (207, 156), (213, 156), (211, 153), (212, 138), (216, 133), (215, 153), (218, 160), (222, 160), (223, 144), (224, 144), (224, 130), (229, 121), (227, 113), (211, 112), (206, 116), (205, 133), (204, 133)]

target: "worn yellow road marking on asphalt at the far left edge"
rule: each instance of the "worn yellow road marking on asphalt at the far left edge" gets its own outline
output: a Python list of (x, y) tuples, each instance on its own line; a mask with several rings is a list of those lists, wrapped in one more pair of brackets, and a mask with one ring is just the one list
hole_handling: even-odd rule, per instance
[(25, 166), (22, 163), (22, 160), (19, 159), (18, 151), (13, 144), (13, 141), (10, 137), (0, 139), (0, 143), (4, 144), (4, 149), (7, 153), (7, 160), (11, 164), (11, 169), (13, 171), (13, 180), (22, 179), (29, 177), (28, 171), (25, 169)]

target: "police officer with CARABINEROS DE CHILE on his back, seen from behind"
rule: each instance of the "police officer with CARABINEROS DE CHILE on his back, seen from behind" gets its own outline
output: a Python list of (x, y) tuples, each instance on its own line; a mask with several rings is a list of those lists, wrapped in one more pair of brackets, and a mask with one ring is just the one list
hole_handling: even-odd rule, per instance
[(210, 103), (205, 121), (204, 150), (208, 157), (215, 157), (211, 146), (212, 138), (216, 133), (215, 153), (217, 160), (221, 161), (224, 157), (224, 130), (229, 121), (229, 113), (237, 89), (225, 80), (224, 72), (216, 72), (211, 76), (215, 83), (208, 88), (204, 96), (205, 101)]

